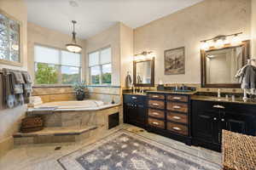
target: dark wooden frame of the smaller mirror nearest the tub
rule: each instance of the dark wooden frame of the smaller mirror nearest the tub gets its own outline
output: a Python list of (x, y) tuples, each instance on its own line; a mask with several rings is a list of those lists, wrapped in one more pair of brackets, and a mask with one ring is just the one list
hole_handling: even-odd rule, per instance
[[(151, 62), (151, 82), (148, 84), (138, 84), (137, 83), (137, 75), (136, 75), (136, 71), (137, 71), (137, 63), (140, 62), (145, 62), (145, 61), (150, 61)], [(137, 61), (133, 61), (133, 84), (135, 87), (154, 87), (154, 57), (152, 59), (145, 59), (145, 60), (137, 60)]]

